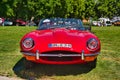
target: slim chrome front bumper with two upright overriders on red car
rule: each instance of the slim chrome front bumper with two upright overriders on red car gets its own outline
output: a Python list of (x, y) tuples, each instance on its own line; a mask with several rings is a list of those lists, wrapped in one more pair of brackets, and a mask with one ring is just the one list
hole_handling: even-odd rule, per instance
[(23, 52), (23, 51), (21, 51), (21, 52), (27, 56), (35, 56), (37, 60), (40, 57), (79, 57), (79, 56), (81, 57), (82, 60), (84, 60), (84, 57), (86, 57), (86, 56), (97, 56), (98, 54), (100, 54), (100, 52), (85, 54), (84, 50), (82, 51), (81, 54), (62, 54), (62, 53), (59, 53), (59, 54), (41, 54), (38, 50), (36, 51), (36, 54), (30, 53), (30, 52)]

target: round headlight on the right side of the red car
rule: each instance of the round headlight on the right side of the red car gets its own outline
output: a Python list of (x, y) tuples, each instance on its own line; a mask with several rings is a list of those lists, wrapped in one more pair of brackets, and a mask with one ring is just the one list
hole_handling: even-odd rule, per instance
[(87, 48), (90, 51), (96, 50), (98, 48), (98, 41), (94, 38), (91, 38), (87, 42)]

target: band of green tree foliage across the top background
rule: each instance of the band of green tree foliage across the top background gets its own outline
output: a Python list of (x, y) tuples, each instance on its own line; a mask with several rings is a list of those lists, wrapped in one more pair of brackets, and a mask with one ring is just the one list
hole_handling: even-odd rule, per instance
[(120, 16), (119, 0), (2, 0), (0, 17), (30, 19), (47, 17)]

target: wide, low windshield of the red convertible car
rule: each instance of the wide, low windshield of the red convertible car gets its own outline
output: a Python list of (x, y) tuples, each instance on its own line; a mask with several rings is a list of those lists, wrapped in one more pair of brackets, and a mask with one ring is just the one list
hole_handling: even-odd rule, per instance
[(74, 28), (84, 30), (82, 21), (73, 18), (50, 18), (42, 19), (39, 23), (39, 30), (52, 29), (52, 28)]

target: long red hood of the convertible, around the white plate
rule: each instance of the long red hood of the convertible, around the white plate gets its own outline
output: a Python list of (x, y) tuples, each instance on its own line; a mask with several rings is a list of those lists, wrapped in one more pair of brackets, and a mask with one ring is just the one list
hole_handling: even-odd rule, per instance
[[(39, 50), (40, 52), (52, 50), (81, 52), (84, 50), (86, 53), (89, 53), (86, 48), (87, 41), (90, 38), (98, 40), (94, 34), (88, 31), (68, 30), (64, 28), (32, 31), (25, 35), (23, 39), (28, 37), (33, 38), (35, 42), (34, 50)], [(50, 47), (50, 44), (70, 44), (71, 48)]]

